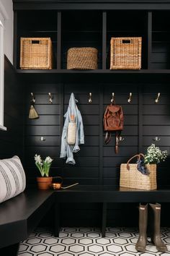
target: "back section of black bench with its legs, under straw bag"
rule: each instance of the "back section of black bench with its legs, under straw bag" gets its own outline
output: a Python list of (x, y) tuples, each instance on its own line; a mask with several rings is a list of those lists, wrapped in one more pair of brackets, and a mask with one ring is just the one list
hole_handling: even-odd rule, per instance
[(76, 186), (71, 189), (55, 190), (55, 236), (58, 236), (60, 225), (61, 203), (66, 202), (101, 202), (102, 203), (102, 236), (107, 226), (107, 203), (109, 202), (170, 202), (170, 190), (138, 190), (112, 186)]

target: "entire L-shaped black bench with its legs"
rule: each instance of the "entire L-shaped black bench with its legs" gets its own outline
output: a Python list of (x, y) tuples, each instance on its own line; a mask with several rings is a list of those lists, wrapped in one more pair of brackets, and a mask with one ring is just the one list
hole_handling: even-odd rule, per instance
[(76, 186), (61, 190), (26, 189), (0, 204), (0, 255), (17, 255), (19, 242), (27, 239), (41, 218), (55, 204), (55, 236), (60, 231), (60, 208), (65, 202), (101, 202), (102, 236), (107, 226), (107, 202), (170, 202), (170, 190), (123, 189), (112, 186)]

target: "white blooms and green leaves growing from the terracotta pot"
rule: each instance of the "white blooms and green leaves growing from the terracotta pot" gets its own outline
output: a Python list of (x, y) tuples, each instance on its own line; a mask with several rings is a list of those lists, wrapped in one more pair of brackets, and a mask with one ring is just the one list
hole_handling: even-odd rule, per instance
[(35, 165), (37, 166), (38, 170), (40, 171), (41, 176), (49, 176), (50, 166), (53, 159), (50, 156), (47, 156), (45, 160), (42, 160), (40, 155), (35, 155)]

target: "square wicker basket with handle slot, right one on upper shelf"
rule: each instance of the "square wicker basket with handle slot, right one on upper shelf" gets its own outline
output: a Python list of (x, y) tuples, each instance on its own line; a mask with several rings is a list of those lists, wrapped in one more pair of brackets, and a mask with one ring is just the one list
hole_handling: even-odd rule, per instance
[(110, 69), (141, 69), (142, 38), (111, 38)]

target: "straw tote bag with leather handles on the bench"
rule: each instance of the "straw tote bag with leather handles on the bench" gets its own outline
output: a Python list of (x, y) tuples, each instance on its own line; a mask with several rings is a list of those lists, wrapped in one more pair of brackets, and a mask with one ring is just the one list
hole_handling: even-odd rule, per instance
[(149, 175), (141, 174), (137, 169), (137, 163), (122, 163), (120, 166), (120, 187), (144, 190), (157, 189), (156, 164), (147, 164), (146, 168), (150, 172)]

